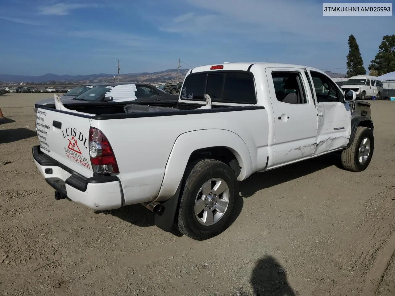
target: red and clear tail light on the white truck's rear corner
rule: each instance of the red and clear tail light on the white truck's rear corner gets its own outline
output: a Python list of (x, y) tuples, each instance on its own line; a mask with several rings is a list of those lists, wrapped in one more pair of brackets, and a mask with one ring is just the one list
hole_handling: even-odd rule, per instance
[(98, 174), (119, 173), (110, 143), (105, 135), (94, 127), (89, 130), (89, 155), (94, 172)]

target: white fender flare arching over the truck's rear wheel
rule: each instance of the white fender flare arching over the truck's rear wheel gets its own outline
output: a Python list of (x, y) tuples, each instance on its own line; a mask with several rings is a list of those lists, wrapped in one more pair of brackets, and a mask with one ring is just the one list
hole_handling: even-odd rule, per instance
[(243, 180), (252, 173), (250, 151), (239, 135), (226, 129), (189, 131), (179, 135), (174, 142), (167, 159), (162, 186), (155, 201), (167, 200), (175, 194), (194, 151), (217, 146), (228, 148), (237, 158), (241, 167), (238, 180)]

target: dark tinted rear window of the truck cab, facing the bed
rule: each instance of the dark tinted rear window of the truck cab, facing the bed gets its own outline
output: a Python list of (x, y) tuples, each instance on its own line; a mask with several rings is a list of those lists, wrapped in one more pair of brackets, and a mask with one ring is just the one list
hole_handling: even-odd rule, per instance
[(182, 86), (181, 99), (205, 101), (204, 94), (208, 94), (213, 102), (257, 102), (254, 76), (248, 71), (210, 71), (188, 75)]

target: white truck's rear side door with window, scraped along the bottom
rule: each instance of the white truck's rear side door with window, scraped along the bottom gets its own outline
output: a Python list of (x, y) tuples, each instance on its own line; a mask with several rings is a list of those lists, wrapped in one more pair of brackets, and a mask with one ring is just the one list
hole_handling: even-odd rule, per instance
[(314, 153), (317, 136), (317, 110), (307, 78), (298, 68), (267, 68), (274, 120), (275, 167)]

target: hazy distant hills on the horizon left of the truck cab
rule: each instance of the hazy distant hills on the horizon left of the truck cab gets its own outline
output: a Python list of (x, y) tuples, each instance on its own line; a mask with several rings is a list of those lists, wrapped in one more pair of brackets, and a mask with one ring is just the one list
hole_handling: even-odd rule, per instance
[[(129, 74), (121, 74), (120, 80), (121, 81), (128, 81), (130, 79), (135, 79), (138, 81), (145, 81), (152, 80), (150, 82), (167, 82), (167, 80), (171, 81), (177, 79), (178, 76), (178, 69), (167, 69), (164, 71), (159, 72), (142, 72), (142, 73), (129, 73)], [(188, 70), (180, 69), (180, 77), (184, 76)], [(90, 75), (56, 75), (56, 74), (45, 74), (41, 76), (27, 76), (27, 75), (8, 75), (8, 74), (0, 74), (0, 82), (33, 82), (33, 83), (40, 83), (40, 82), (68, 82), (68, 83), (75, 83), (80, 81), (89, 81), (89, 82), (107, 82), (113, 81), (113, 77), (117, 76), (117, 74), (90, 74)], [(159, 79), (161, 81), (156, 81)], [(162, 81), (164, 80), (164, 81)]]

